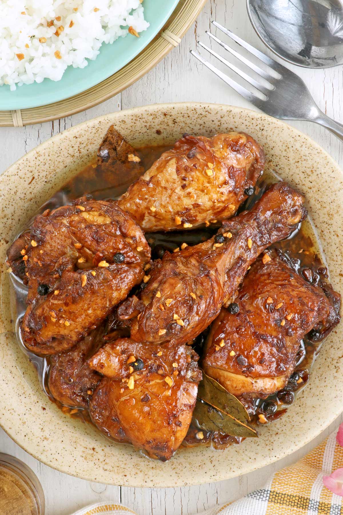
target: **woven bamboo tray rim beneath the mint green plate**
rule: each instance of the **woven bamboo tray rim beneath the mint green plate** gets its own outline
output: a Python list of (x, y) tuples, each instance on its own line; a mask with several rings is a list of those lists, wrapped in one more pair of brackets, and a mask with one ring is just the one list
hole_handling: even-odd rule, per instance
[(0, 111), (0, 127), (23, 127), (64, 118), (85, 111), (117, 95), (148, 73), (172, 48), (180, 43), (181, 38), (194, 22), (206, 1), (180, 0), (168, 22), (149, 45), (108, 79), (79, 95), (55, 104), (17, 111)]

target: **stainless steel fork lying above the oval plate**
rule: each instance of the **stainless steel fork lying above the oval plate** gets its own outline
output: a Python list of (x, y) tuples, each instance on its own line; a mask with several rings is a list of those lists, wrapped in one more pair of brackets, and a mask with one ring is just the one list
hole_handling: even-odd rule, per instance
[(206, 61), (197, 52), (191, 50), (191, 54), (201, 61), (209, 70), (215, 75), (224, 80), (231, 88), (240, 93), (251, 104), (264, 111), (270, 116), (286, 120), (305, 120), (314, 122), (316, 124), (326, 127), (333, 132), (338, 138), (343, 140), (343, 125), (338, 124), (333, 119), (329, 118), (323, 113), (315, 104), (308, 88), (303, 80), (298, 77), (291, 70), (278, 63), (274, 59), (266, 56), (254, 46), (236, 36), (231, 30), (223, 27), (218, 22), (212, 21), (212, 24), (218, 29), (222, 30), (229, 38), (238, 43), (240, 46), (248, 50), (250, 54), (257, 57), (260, 61), (266, 64), (267, 71), (263, 70), (258, 64), (251, 62), (246, 57), (242, 56), (239, 52), (231, 48), (229, 45), (214, 36), (209, 30), (206, 34), (219, 43), (227, 52), (239, 59), (243, 64), (247, 65), (252, 71), (256, 72), (260, 80), (255, 80), (250, 75), (244, 73), (237, 66), (224, 59), (222, 56), (214, 52), (211, 48), (204, 43), (198, 41), (198, 44), (207, 50), (212, 56), (216, 57), (223, 64), (228, 66), (234, 73), (246, 80), (252, 85), (257, 93), (251, 93), (244, 86), (228, 77), (221, 70), (218, 70), (213, 64)]

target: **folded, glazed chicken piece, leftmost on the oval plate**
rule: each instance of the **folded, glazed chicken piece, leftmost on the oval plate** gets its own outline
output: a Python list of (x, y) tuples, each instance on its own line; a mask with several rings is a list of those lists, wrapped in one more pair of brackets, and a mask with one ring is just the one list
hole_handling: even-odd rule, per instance
[(70, 349), (95, 329), (140, 282), (150, 259), (130, 215), (85, 198), (37, 216), (23, 252), (29, 306), (22, 333), (39, 354)]

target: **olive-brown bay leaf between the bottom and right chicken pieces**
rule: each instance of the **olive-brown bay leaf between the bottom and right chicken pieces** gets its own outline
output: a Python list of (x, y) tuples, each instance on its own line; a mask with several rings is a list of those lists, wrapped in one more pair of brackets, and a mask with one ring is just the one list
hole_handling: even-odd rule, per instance
[(197, 398), (193, 418), (203, 429), (221, 431), (231, 436), (258, 436), (248, 425), (250, 417), (243, 404), (204, 371)]

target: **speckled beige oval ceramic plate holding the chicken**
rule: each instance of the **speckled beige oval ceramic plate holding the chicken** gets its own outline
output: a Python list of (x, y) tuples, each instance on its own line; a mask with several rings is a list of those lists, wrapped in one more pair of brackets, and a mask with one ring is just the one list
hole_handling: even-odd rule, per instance
[[(37, 373), (16, 343), (5, 254), (26, 220), (78, 169), (94, 158), (111, 124), (134, 146), (175, 142), (183, 132), (213, 135), (243, 130), (261, 143), (266, 169), (306, 195), (334, 288), (343, 294), (343, 174), (308, 136), (262, 113), (207, 104), (167, 104), (121, 111), (73, 127), (43, 143), (0, 176), (0, 423), (27, 452), (61, 472), (124, 486), (208, 483), (276, 461), (316, 437), (343, 409), (343, 323), (328, 336), (310, 381), (288, 413), (259, 428), (260, 437), (224, 451), (180, 448), (166, 463), (106, 440), (90, 424), (65, 416), (43, 393)], [(160, 135), (156, 134), (159, 129)], [(158, 132), (159, 132), (158, 131)]]

